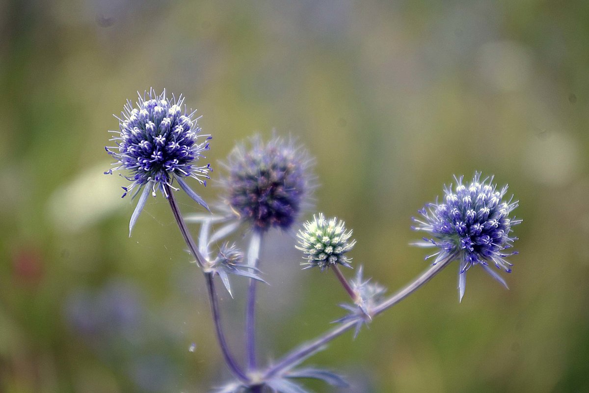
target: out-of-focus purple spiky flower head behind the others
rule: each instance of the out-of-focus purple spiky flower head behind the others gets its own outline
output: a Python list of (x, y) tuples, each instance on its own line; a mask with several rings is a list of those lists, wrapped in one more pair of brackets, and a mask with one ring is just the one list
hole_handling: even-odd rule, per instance
[(238, 144), (227, 158), (225, 203), (255, 230), (288, 229), (299, 216), (314, 179), (309, 156), (292, 140), (259, 136)]

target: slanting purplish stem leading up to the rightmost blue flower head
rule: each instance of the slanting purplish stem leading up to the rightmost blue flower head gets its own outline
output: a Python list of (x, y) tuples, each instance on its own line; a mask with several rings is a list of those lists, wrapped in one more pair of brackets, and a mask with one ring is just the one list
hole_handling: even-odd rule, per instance
[[(396, 303), (401, 302), (401, 300), (405, 299), (407, 296), (411, 295), (411, 293), (415, 292), (418, 288), (424, 285), (426, 282), (434, 278), (439, 272), (444, 269), (444, 267), (448, 266), (448, 264), (454, 259), (454, 255), (449, 255), (446, 259), (439, 261), (436, 265), (431, 266), (428, 270), (422, 273), (421, 276), (416, 278), (413, 282), (409, 283), (409, 285), (405, 286), (405, 288), (399, 290), (390, 298), (383, 300), (378, 305), (370, 310), (370, 315), (378, 315), (379, 313), (385, 311), (388, 308), (391, 308)], [(336, 328), (331, 329), (330, 331), (326, 332), (322, 336), (319, 336), (313, 341), (309, 341), (306, 344), (299, 346), (299, 348), (294, 349), (294, 351), (290, 352), (274, 364), (270, 366), (264, 373), (264, 378), (273, 377), (276, 374), (288, 369), (290, 366), (297, 364), (302, 359), (304, 359), (309, 354), (317, 351), (317, 349), (321, 348), (322, 346), (326, 345), (329, 341), (336, 338), (339, 335), (342, 335), (349, 329), (356, 326), (358, 321), (352, 320), (342, 325), (337, 326)]]

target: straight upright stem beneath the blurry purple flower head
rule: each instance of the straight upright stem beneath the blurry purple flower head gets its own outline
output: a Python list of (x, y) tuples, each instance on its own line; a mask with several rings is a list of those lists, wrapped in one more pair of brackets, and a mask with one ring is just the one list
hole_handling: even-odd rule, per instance
[[(248, 265), (257, 267), (260, 256), (260, 246), (262, 243), (262, 234), (254, 232), (250, 247), (247, 253)], [(256, 362), (256, 288), (257, 280), (250, 279), (249, 288), (247, 290), (247, 304), (246, 304), (246, 354), (247, 366), (250, 370), (257, 367)]]

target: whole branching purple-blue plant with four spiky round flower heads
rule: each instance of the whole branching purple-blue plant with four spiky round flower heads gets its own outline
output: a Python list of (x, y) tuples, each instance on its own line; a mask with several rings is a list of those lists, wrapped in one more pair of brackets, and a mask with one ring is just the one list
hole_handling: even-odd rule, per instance
[[(312, 160), (307, 152), (296, 146), (292, 140), (273, 138), (263, 142), (253, 137), (249, 143), (238, 144), (231, 151), (227, 163), (227, 176), (223, 184), (223, 213), (219, 216), (196, 214), (186, 220), (180, 213), (174, 198), (174, 181), (188, 196), (201, 206), (209, 207), (198, 196), (185, 179), (191, 177), (206, 186), (210, 179), (209, 164), (197, 165), (203, 152), (209, 149), (209, 135), (200, 134), (198, 118), (193, 111), (187, 111), (184, 98), (166, 91), (157, 95), (153, 90), (139, 95), (134, 105), (127, 101), (119, 120), (119, 131), (111, 138), (115, 146), (107, 146), (107, 153), (115, 158), (111, 170), (125, 171), (122, 176), (131, 182), (123, 187), (124, 194), (140, 194), (137, 207), (131, 216), (129, 231), (133, 229), (149, 194), (155, 196), (159, 190), (170, 202), (174, 219), (190, 250), (196, 265), (206, 277), (207, 290), (213, 315), (214, 328), (224, 360), (237, 379), (217, 389), (217, 393), (246, 393), (272, 391), (276, 393), (308, 393), (297, 379), (319, 379), (334, 387), (348, 387), (346, 381), (337, 374), (319, 368), (299, 365), (326, 344), (348, 329), (355, 328), (355, 337), (363, 325), (372, 317), (391, 308), (406, 296), (421, 288), (426, 282), (442, 271), (453, 260), (459, 261), (458, 289), (459, 299), (464, 296), (466, 271), (474, 265), (484, 268), (491, 276), (505, 284), (505, 280), (489, 267), (491, 263), (499, 270), (511, 272), (507, 256), (515, 252), (505, 250), (512, 247), (517, 239), (511, 235), (512, 227), (522, 220), (511, 216), (518, 206), (513, 197), (507, 198), (507, 186), (498, 189), (493, 177), (481, 180), (476, 172), (472, 181), (463, 182), (463, 177), (455, 177), (455, 186), (444, 189), (444, 199), (429, 203), (419, 211), (422, 218), (413, 218), (413, 229), (426, 232), (423, 242), (415, 243), (423, 247), (437, 247), (438, 251), (426, 257), (435, 257), (433, 265), (426, 272), (401, 290), (385, 298), (386, 288), (370, 279), (363, 278), (362, 266), (356, 270), (356, 277), (350, 282), (339, 266), (350, 266), (347, 253), (353, 249), (356, 240), (351, 239), (352, 230), (337, 217), (326, 219), (323, 213), (313, 216), (303, 224), (297, 233), (296, 249), (303, 252), (303, 269), (319, 267), (323, 272), (332, 267), (343, 288), (352, 299), (342, 304), (346, 315), (335, 322), (342, 323), (319, 338), (294, 349), (290, 354), (266, 369), (260, 368), (256, 361), (255, 305), (256, 282), (260, 278), (257, 260), (260, 257), (262, 237), (273, 228), (290, 229), (300, 216), (314, 186), (315, 177), (310, 171)], [(202, 140), (198, 138), (203, 138)], [(247, 145), (247, 146), (246, 146)], [(186, 222), (201, 224), (198, 242), (195, 242)], [(246, 258), (233, 243), (220, 241), (229, 237), (243, 223), (253, 229)], [(214, 229), (214, 224), (221, 226)], [(351, 240), (350, 240), (351, 239)], [(215, 252), (213, 252), (215, 251)], [(246, 262), (244, 262), (244, 259)], [(246, 308), (246, 354), (247, 368), (234, 358), (223, 332), (218, 291), (214, 279), (219, 276), (231, 297), (230, 275), (250, 279)], [(191, 347), (190, 351), (193, 351)]]

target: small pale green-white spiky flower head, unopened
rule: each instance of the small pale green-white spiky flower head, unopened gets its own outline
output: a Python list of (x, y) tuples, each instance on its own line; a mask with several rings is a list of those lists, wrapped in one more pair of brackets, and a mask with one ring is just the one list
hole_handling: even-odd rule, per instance
[(303, 224), (297, 237), (299, 244), (297, 249), (305, 253), (307, 262), (303, 269), (319, 266), (321, 271), (333, 266), (336, 263), (351, 267), (346, 253), (356, 244), (356, 240), (349, 241), (352, 230), (346, 232), (345, 222), (337, 220), (337, 217), (326, 220), (323, 213), (313, 215), (313, 219)]

